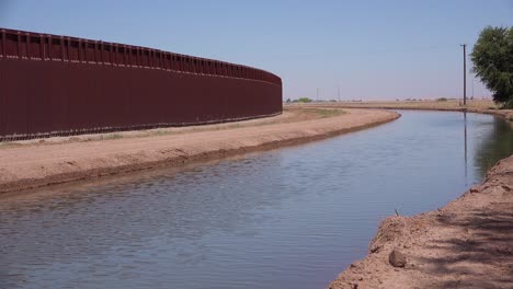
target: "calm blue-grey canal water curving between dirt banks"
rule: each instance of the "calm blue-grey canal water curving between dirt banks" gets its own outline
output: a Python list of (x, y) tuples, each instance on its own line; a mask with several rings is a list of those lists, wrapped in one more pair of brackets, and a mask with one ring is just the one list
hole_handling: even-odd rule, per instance
[(489, 115), (400, 112), (304, 146), (0, 199), (0, 288), (324, 288), (379, 221), (513, 152)]

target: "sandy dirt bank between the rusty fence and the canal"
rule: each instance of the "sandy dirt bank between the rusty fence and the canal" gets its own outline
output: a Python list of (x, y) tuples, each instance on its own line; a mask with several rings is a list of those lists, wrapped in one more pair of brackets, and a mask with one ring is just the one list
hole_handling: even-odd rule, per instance
[(0, 193), (181, 165), (363, 129), (399, 117), (375, 109), (286, 109), (240, 123), (0, 146)]

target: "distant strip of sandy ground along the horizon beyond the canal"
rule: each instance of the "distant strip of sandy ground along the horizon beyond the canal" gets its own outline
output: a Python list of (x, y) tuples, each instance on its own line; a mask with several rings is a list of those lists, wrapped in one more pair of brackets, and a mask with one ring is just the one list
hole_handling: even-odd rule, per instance
[(438, 101), (375, 101), (375, 102), (317, 102), (309, 104), (290, 104), (289, 107), (345, 107), (345, 108), (386, 108), (386, 109), (426, 109), (426, 111), (458, 111), (481, 114), (493, 114), (513, 120), (513, 109), (498, 109), (492, 101), (468, 100), (463, 106), (458, 100)]

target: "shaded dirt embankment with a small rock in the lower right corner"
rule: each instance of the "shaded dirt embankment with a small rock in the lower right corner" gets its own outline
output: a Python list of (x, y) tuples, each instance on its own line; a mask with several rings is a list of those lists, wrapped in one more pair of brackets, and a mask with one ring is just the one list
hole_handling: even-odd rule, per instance
[(387, 218), (329, 288), (513, 288), (513, 155), (441, 209)]

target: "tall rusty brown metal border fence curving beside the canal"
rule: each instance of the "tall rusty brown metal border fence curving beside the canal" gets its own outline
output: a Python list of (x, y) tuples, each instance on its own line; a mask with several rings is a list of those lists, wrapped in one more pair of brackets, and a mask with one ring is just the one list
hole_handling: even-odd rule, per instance
[(0, 32), (0, 141), (282, 113), (282, 80), (261, 69), (100, 41)]

